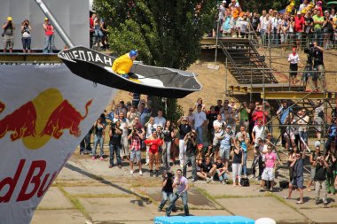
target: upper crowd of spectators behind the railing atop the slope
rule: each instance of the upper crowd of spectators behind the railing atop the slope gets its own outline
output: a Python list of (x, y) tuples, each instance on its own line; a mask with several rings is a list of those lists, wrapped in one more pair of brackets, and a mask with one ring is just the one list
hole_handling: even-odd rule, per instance
[(243, 12), (239, 2), (223, 1), (218, 6), (213, 34), (219, 36), (247, 37), (259, 35), (263, 45), (295, 45), (298, 49), (317, 42), (325, 50), (331, 49), (337, 41), (337, 17), (334, 8), (322, 10), (322, 2), (316, 5), (309, 0), (295, 5), (293, 1), (284, 12), (274, 9), (263, 12)]

